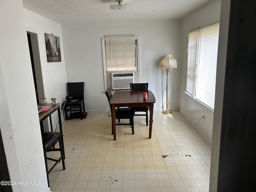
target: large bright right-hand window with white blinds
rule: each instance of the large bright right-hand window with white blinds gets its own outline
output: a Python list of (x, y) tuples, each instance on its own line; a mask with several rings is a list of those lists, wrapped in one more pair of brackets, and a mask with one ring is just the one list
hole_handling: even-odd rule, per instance
[(219, 22), (190, 30), (187, 88), (191, 96), (214, 110)]

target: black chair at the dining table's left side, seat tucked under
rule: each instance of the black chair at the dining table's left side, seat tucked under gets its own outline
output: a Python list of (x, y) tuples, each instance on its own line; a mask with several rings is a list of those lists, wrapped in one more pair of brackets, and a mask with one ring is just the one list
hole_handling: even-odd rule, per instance
[[(106, 89), (105, 94), (108, 98), (108, 103), (110, 106), (110, 111), (112, 115), (112, 108), (110, 105), (110, 98), (112, 97), (112, 93), (110, 89)], [(133, 118), (134, 118), (134, 109), (131, 107), (126, 107), (126, 108), (116, 108), (116, 119), (129, 119), (130, 123), (116, 123), (116, 125), (131, 125), (132, 126), (132, 134), (134, 134), (134, 123), (133, 123)], [(113, 134), (113, 125), (112, 125), (112, 134)]]

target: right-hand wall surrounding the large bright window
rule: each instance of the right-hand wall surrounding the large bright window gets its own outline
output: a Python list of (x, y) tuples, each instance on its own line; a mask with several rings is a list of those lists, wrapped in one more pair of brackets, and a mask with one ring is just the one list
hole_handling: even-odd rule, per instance
[(191, 28), (202, 26), (220, 19), (220, 0), (213, 0), (198, 8), (182, 20), (182, 55), (181, 55), (181, 76), (180, 76), (180, 111), (186, 118), (196, 124), (205, 115), (205, 121), (200, 120), (196, 128), (211, 143), (212, 142), (212, 123), (213, 111), (202, 104), (195, 102), (186, 91), (187, 77), (187, 47), (188, 31)]

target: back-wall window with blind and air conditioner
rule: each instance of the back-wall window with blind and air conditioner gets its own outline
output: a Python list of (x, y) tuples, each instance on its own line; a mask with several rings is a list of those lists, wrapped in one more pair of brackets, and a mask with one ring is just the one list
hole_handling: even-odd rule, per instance
[(127, 89), (130, 88), (130, 83), (138, 82), (138, 48), (138, 36), (105, 36), (102, 38), (105, 90), (115, 89), (115, 87)]

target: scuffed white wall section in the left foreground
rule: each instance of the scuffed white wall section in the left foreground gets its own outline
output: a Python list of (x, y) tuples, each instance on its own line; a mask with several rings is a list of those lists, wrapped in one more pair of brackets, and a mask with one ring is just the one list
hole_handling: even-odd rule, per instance
[(0, 129), (14, 192), (49, 190), (22, 0), (0, 1)]

